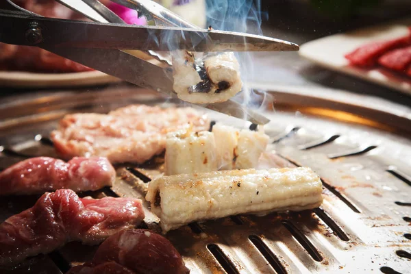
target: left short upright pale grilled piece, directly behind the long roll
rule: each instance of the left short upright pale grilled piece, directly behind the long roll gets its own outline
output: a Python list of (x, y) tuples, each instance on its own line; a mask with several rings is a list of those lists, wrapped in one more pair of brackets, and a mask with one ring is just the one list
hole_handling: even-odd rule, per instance
[(216, 171), (216, 144), (211, 132), (192, 132), (192, 127), (167, 134), (165, 174)]

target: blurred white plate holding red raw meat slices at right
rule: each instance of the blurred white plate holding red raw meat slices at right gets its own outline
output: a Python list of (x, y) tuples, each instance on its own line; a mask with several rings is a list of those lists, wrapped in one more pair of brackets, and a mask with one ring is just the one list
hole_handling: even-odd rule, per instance
[(402, 76), (382, 68), (358, 69), (349, 66), (348, 60), (344, 57), (345, 54), (368, 42), (406, 36), (410, 25), (411, 18), (408, 18), (375, 27), (358, 29), (354, 32), (327, 36), (301, 45), (299, 54), (303, 58), (328, 69), (360, 77), (375, 84), (381, 84), (411, 95), (411, 77)]

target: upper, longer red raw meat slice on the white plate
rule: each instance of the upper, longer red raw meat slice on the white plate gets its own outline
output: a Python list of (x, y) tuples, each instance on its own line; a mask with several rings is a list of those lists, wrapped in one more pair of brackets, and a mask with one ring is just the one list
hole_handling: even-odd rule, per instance
[(399, 47), (406, 47), (410, 44), (411, 34), (394, 40), (372, 42), (363, 45), (345, 55), (345, 58), (347, 58), (351, 64), (356, 66), (373, 66), (377, 63), (378, 58), (387, 51)]

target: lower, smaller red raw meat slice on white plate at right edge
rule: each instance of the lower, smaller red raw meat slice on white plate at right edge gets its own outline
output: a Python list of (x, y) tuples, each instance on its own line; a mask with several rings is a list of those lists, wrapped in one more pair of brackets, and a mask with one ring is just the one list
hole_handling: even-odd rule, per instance
[(411, 64), (411, 46), (388, 51), (378, 59), (378, 64), (394, 71), (405, 71)]

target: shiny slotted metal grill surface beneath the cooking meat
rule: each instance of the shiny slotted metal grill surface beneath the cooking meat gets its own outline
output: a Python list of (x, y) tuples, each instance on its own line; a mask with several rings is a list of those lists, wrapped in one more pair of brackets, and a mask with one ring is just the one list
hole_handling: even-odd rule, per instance
[[(57, 157), (47, 136), (62, 115), (108, 112), (130, 103), (158, 104), (162, 100), (141, 91), (115, 90), (99, 95), (55, 95), (0, 110), (0, 169), (28, 157)], [(38, 111), (32, 115), (33, 110)], [(10, 117), (10, 113), (16, 116)], [(267, 156), (269, 165), (310, 166), (323, 180), (324, 203), (304, 212), (232, 216), (169, 232), (166, 237), (184, 256), (191, 272), (409, 273), (411, 175), (409, 166), (394, 152), (401, 149), (401, 155), (410, 155), (411, 160), (411, 153), (407, 154), (410, 142), (365, 127), (287, 113), (269, 115), (273, 120), (267, 132), (273, 142)], [(211, 116), (230, 125), (249, 126), (218, 114)], [(161, 157), (144, 165), (116, 166), (112, 188), (82, 196), (131, 196), (145, 201), (147, 184), (161, 174), (161, 166)], [(36, 199), (3, 197), (1, 221), (31, 207)], [(159, 219), (150, 212), (149, 203), (144, 205), (142, 227), (160, 232)], [(96, 249), (71, 242), (2, 273), (64, 273), (90, 260)]]

